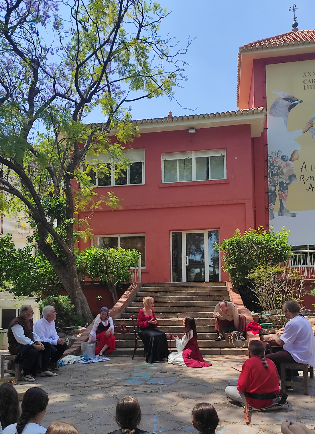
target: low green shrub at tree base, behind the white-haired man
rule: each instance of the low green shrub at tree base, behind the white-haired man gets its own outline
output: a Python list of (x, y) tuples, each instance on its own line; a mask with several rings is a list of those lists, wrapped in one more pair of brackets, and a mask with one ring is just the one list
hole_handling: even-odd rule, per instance
[(57, 319), (55, 321), (57, 327), (69, 327), (74, 325), (85, 324), (81, 315), (75, 314), (75, 307), (68, 296), (49, 296), (43, 298), (39, 303), (39, 310), (42, 314), (43, 307), (54, 306), (57, 312)]

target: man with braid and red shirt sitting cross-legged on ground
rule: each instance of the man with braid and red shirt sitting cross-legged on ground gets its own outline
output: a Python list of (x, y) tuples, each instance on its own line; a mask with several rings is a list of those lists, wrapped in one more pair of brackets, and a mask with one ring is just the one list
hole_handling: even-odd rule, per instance
[(276, 365), (265, 358), (265, 345), (251, 341), (248, 346), (249, 358), (245, 361), (237, 386), (227, 386), (227, 398), (244, 404), (245, 392), (251, 410), (263, 409), (286, 401), (279, 396), (279, 375)]

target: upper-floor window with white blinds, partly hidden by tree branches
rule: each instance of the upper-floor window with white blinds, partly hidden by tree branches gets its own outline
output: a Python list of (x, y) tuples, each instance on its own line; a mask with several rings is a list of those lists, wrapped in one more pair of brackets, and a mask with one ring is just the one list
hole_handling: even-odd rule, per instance
[(131, 164), (127, 170), (121, 170), (117, 175), (117, 165), (110, 154), (87, 155), (85, 166), (95, 165), (95, 170), (89, 172), (92, 182), (96, 187), (114, 185), (144, 184), (144, 148), (125, 149), (123, 157), (128, 158)]

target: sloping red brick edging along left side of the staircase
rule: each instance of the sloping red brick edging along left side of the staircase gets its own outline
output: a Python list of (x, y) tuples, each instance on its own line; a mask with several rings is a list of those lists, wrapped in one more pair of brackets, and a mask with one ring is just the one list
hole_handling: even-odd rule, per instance
[[(119, 315), (122, 312), (122, 310), (125, 309), (125, 307), (130, 302), (130, 300), (135, 295), (135, 293), (138, 291), (138, 289), (140, 288), (141, 285), (142, 285), (142, 283), (131, 283), (129, 288), (123, 293), (123, 295), (120, 297), (120, 299), (115, 304), (115, 306), (113, 306), (112, 309), (110, 309), (109, 315), (112, 318), (115, 318), (115, 316)], [(64, 356), (65, 355), (79, 355), (80, 354), (81, 344), (82, 344), (82, 342), (88, 341), (89, 334), (93, 328), (94, 321), (98, 317), (99, 317), (99, 315), (93, 319), (93, 321), (91, 322), (89, 327), (82, 333), (81, 336), (79, 336), (79, 338), (71, 345), (71, 347), (68, 348), (63, 353)]]

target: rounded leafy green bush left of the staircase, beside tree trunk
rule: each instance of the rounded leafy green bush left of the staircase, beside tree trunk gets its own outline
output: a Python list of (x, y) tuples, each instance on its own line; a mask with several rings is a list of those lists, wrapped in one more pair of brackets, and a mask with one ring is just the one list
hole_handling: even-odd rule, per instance
[(118, 301), (116, 287), (129, 283), (132, 279), (130, 268), (138, 265), (138, 250), (98, 249), (88, 247), (78, 255), (79, 271), (91, 279), (106, 283), (111, 290), (114, 302)]

